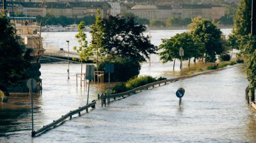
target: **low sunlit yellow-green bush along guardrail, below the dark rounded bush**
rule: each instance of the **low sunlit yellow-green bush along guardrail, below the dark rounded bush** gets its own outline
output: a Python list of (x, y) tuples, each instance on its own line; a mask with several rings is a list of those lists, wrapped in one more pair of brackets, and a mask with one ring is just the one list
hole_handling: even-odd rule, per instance
[(143, 86), (145, 84), (149, 84), (152, 82), (156, 82), (156, 78), (151, 77), (151, 76), (140, 76), (140, 77), (134, 77), (130, 80), (128, 80), (128, 82), (126, 82), (125, 86), (127, 87), (127, 89), (134, 89), (136, 87), (140, 87)]

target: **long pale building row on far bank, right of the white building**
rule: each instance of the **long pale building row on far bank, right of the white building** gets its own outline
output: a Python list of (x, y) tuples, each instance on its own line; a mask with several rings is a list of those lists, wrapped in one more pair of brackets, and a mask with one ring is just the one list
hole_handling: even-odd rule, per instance
[(167, 5), (136, 5), (131, 8), (131, 13), (148, 20), (166, 20), (170, 17), (177, 19), (190, 19), (201, 16), (205, 19), (220, 19), (225, 15), (225, 7), (204, 4), (180, 4), (179, 6)]

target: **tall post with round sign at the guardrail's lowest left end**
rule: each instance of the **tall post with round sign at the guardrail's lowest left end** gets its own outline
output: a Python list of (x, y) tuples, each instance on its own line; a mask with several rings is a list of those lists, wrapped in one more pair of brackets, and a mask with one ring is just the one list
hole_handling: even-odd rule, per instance
[(29, 88), (30, 96), (31, 96), (31, 121), (32, 121), (31, 136), (34, 137), (35, 131), (34, 131), (34, 115), (33, 115), (33, 89), (36, 89), (36, 80), (35, 79), (27, 80), (27, 87)]

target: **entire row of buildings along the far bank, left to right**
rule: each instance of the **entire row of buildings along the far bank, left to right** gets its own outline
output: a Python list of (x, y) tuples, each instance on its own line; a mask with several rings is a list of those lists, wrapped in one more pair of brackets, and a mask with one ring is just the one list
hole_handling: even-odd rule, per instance
[(225, 7), (209, 4), (179, 4), (179, 5), (127, 5), (118, 1), (86, 1), (86, 2), (7, 2), (6, 8), (11, 13), (22, 13), (28, 17), (37, 15), (64, 15), (71, 18), (82, 18), (95, 15), (100, 10), (102, 18), (108, 15), (119, 15), (122, 12), (131, 12), (134, 15), (148, 20), (166, 20), (170, 17), (187, 19), (201, 16), (205, 19), (220, 19), (225, 15)]

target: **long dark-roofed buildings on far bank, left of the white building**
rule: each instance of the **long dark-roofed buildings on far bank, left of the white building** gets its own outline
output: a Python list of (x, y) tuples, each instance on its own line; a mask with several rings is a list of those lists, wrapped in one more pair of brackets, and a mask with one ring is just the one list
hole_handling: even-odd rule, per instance
[[(2, 4), (0, 4), (1, 6)], [(61, 15), (70, 18), (81, 18), (88, 15), (96, 15), (100, 10), (102, 18), (108, 18), (111, 13), (111, 6), (107, 2), (66, 2), (66, 3), (24, 3), (24, 2), (6, 2), (6, 9), (12, 14), (23, 14), (27, 17), (36, 17), (37, 15)]]

